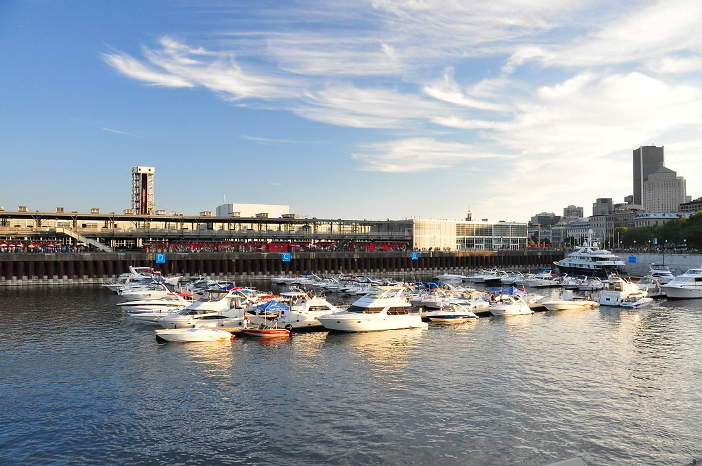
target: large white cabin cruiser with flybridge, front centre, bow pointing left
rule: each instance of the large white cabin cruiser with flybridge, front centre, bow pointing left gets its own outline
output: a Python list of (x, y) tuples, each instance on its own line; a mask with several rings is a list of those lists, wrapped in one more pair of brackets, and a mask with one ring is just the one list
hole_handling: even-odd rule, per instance
[(319, 317), (327, 330), (340, 332), (374, 332), (398, 328), (427, 328), (419, 313), (409, 313), (404, 286), (377, 286), (348, 309)]

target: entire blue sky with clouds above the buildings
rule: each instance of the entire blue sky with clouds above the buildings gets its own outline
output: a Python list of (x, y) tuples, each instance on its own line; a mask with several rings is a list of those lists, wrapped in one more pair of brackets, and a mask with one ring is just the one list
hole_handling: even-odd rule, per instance
[(0, 206), (526, 222), (702, 196), (702, 2), (0, 1)]

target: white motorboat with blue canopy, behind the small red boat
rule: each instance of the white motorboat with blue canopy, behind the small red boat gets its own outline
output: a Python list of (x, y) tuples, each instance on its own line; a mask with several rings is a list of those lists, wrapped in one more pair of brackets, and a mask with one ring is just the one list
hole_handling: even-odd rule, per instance
[(254, 325), (269, 324), (271, 319), (278, 319), (278, 325), (289, 331), (314, 331), (324, 330), (318, 317), (340, 310), (323, 295), (291, 287), (280, 293), (276, 300), (249, 307), (246, 316)]

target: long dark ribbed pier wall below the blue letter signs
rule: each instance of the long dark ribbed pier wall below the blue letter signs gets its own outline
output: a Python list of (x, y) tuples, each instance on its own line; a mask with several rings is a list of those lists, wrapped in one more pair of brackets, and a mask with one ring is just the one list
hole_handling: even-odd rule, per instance
[(411, 251), (291, 253), (167, 253), (166, 262), (154, 254), (134, 253), (6, 253), (0, 254), (0, 286), (37, 284), (101, 284), (128, 272), (129, 265), (150, 266), (164, 275), (244, 280), (277, 275), (376, 274), (394, 279), (418, 279), (435, 274), (470, 274), (498, 267), (529, 271), (551, 266), (563, 258), (557, 249), (527, 251)]

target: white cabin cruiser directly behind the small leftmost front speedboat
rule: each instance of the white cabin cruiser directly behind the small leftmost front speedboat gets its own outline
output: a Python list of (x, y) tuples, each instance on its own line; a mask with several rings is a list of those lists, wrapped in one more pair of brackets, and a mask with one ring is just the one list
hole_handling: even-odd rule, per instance
[(240, 331), (246, 326), (244, 305), (246, 295), (239, 290), (213, 288), (180, 312), (159, 319), (164, 328), (224, 327)]

